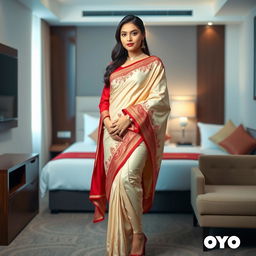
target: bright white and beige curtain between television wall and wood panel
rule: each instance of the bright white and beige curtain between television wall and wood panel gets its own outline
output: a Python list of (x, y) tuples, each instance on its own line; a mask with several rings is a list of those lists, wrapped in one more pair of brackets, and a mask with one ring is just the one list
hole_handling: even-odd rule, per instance
[(49, 25), (32, 16), (31, 129), (32, 150), (39, 153), (39, 169), (49, 160), (51, 144), (50, 31)]

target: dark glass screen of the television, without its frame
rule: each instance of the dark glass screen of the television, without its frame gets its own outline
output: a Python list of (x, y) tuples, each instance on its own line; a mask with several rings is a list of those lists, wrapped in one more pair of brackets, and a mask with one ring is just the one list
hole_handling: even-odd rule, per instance
[(0, 122), (18, 118), (17, 57), (0, 53)]

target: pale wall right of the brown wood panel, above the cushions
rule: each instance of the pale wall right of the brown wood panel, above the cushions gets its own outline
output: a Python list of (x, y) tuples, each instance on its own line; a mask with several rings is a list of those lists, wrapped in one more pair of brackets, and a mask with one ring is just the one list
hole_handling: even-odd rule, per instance
[(253, 100), (253, 18), (256, 9), (240, 25), (226, 27), (225, 120), (256, 128)]

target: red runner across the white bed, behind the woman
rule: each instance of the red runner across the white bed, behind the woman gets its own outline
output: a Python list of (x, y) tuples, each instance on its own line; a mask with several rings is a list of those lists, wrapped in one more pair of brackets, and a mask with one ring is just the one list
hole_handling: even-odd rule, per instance
[[(65, 158), (95, 158), (95, 152), (65, 152), (54, 157), (52, 160)], [(162, 159), (185, 159), (198, 160), (199, 153), (163, 153)]]

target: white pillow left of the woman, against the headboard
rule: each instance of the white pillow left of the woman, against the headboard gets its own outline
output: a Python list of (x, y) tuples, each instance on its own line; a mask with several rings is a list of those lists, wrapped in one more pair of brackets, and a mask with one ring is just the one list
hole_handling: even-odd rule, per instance
[(96, 145), (95, 141), (89, 135), (99, 126), (99, 113), (84, 113), (84, 143), (87, 145)]

